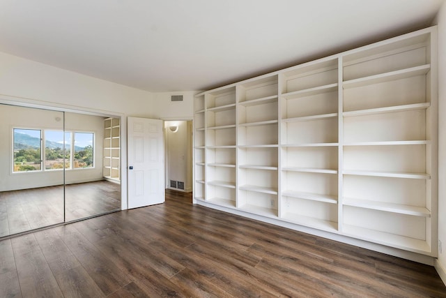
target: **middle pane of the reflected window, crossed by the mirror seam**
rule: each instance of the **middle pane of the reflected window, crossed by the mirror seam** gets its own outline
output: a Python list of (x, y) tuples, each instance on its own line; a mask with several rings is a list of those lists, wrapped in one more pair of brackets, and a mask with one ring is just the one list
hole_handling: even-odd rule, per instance
[[(65, 135), (65, 167), (70, 168), (71, 133)], [(63, 169), (63, 144), (63, 131), (45, 131), (45, 170)]]

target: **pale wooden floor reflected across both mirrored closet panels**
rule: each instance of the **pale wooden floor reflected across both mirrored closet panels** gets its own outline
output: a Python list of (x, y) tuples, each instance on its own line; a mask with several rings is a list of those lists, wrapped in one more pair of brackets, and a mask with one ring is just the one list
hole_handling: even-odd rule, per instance
[[(121, 209), (121, 186), (95, 181), (66, 186), (66, 221)], [(0, 192), (0, 237), (63, 223), (63, 186)]]

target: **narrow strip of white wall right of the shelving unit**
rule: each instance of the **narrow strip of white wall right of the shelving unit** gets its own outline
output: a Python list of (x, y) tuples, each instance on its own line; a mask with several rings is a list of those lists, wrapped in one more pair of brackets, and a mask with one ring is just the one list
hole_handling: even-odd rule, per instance
[(446, 283), (446, 3), (438, 12), (438, 251), (436, 269)]

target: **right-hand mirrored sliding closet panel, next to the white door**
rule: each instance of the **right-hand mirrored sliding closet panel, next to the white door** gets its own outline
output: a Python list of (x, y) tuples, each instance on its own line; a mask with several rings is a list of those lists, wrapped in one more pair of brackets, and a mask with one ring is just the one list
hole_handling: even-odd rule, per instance
[(72, 166), (66, 170), (66, 221), (121, 209), (119, 119), (65, 113), (72, 137)]

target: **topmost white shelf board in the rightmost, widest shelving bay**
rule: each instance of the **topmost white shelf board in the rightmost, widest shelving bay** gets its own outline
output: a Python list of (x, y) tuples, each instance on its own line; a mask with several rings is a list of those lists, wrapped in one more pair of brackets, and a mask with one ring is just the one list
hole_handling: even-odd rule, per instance
[(378, 84), (389, 82), (392, 80), (405, 79), (407, 77), (415, 77), (417, 75), (425, 75), (431, 69), (430, 64), (405, 68), (401, 70), (390, 71), (389, 73), (380, 73), (378, 75), (370, 75), (369, 77), (360, 77), (354, 80), (348, 80), (343, 83), (344, 89), (367, 86), (369, 84)]

